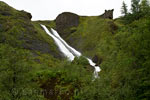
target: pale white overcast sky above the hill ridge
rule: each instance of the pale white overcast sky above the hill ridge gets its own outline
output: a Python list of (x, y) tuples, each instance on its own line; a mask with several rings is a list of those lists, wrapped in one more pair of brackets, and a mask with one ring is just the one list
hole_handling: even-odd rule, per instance
[[(121, 15), (123, 0), (0, 0), (10, 6), (30, 12), (32, 20), (53, 20), (62, 12), (78, 15), (101, 15), (105, 9), (115, 9), (114, 17)], [(124, 0), (130, 7), (131, 0)]]

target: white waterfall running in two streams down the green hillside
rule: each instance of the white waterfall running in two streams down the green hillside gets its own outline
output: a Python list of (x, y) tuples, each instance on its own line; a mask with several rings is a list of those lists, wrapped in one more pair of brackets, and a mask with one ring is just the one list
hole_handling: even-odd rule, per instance
[[(61, 37), (60, 35), (51, 28), (51, 32), (47, 29), (45, 25), (41, 25), (42, 28), (45, 30), (45, 32), (53, 38), (56, 45), (58, 46), (59, 50), (66, 56), (70, 61), (73, 61), (75, 57), (79, 57), (82, 54), (75, 50), (73, 47), (69, 46)], [(91, 66), (94, 67), (94, 77), (98, 78), (98, 73), (101, 71), (99, 66), (96, 66), (96, 64), (89, 58), (85, 57)]]

